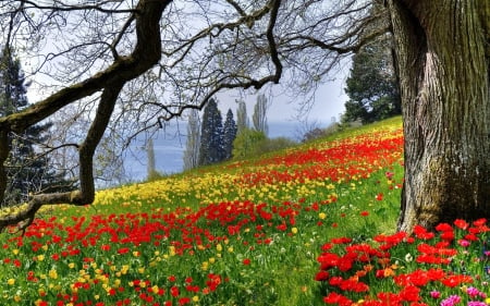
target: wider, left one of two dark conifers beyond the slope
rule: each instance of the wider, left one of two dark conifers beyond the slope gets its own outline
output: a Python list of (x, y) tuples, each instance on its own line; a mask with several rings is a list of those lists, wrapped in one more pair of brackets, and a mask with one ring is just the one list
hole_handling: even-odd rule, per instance
[(215, 99), (210, 99), (203, 114), (200, 132), (199, 166), (223, 160), (223, 123)]

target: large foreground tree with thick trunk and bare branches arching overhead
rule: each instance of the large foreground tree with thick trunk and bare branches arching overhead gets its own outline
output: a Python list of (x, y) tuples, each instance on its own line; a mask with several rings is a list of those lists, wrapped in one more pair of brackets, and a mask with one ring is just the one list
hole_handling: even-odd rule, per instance
[[(372, 13), (373, 2), (387, 8)], [(52, 150), (76, 149), (79, 188), (34, 195), (1, 217), (0, 229), (25, 221), (24, 229), (42, 205), (91, 203), (94, 152), (118, 123), (158, 128), (238, 88), (277, 85), (305, 97), (342, 59), (390, 30), (406, 148), (400, 229), (490, 217), (487, 0), (50, 3), (0, 5), (0, 42), (23, 50), (29, 75), (49, 76), (36, 79), (44, 94), (36, 103), (0, 118), (0, 199), (10, 135), (75, 105), (89, 114), (90, 127)], [(158, 99), (140, 98), (147, 94)]]

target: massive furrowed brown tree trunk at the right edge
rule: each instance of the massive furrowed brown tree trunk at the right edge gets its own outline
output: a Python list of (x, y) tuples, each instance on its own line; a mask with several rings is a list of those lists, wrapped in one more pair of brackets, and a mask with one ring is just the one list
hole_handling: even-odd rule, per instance
[(405, 134), (399, 230), (489, 218), (489, 1), (388, 3)]

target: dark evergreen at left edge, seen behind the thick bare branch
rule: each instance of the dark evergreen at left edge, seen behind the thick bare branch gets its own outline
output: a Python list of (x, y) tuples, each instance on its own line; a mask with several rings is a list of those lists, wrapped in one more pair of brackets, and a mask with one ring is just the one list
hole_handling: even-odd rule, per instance
[[(21, 63), (9, 48), (0, 54), (0, 117), (12, 114), (28, 106), (25, 77)], [(8, 197), (4, 203), (26, 200), (29, 193), (65, 191), (70, 184), (62, 173), (49, 167), (49, 160), (36, 151), (36, 144), (47, 139), (50, 123), (28, 127), (23, 134), (9, 134), (11, 154), (7, 159)]]

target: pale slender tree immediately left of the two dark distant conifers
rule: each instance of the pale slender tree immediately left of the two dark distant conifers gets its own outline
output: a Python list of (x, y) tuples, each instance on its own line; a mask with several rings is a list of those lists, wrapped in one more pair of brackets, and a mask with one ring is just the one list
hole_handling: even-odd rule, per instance
[(191, 110), (187, 123), (187, 140), (184, 150), (184, 170), (199, 166), (200, 122), (197, 110)]

